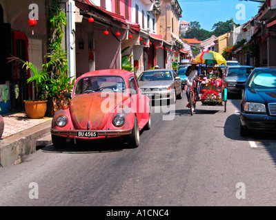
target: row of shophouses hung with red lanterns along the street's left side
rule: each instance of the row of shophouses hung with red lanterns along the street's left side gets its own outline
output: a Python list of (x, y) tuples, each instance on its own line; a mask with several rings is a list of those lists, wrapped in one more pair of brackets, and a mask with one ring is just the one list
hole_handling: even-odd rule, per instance
[[(32, 73), (17, 63), (7, 63), (7, 58), (17, 56), (37, 67), (45, 62), (46, 23), (52, 1), (36, 0), (32, 7), (31, 2), (0, 0), (3, 30), (0, 61), (5, 67), (0, 87), (8, 85), (10, 91), (8, 102), (1, 105), (2, 113), (24, 110), (23, 100), (34, 99), (34, 85), (26, 83)], [(183, 43), (179, 39), (181, 8), (177, 0), (67, 0), (58, 3), (67, 16), (63, 47), (68, 54), (70, 77), (77, 78), (97, 69), (121, 69), (121, 56), (126, 54), (130, 55), (129, 62), (137, 76), (155, 65), (170, 68), (177, 50), (180, 56)], [(28, 24), (30, 13), (37, 16), (37, 25), (32, 27)], [(160, 25), (162, 21), (166, 21), (164, 28)], [(20, 94), (17, 100), (12, 94), (16, 84)]]

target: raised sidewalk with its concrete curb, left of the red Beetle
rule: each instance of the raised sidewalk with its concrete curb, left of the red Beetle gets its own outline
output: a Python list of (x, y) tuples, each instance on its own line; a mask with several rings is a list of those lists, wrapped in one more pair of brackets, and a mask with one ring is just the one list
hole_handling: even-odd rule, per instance
[(52, 118), (30, 119), (26, 113), (5, 113), (2, 117), (5, 127), (0, 139), (0, 162), (4, 167), (22, 162), (36, 151), (37, 140), (50, 134)]

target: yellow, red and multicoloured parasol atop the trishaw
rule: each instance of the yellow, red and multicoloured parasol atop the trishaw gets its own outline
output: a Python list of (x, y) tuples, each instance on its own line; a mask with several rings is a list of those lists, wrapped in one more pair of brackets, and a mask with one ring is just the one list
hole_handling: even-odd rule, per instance
[(197, 63), (201, 64), (214, 63), (227, 65), (225, 58), (221, 54), (213, 52), (212, 50), (207, 50), (198, 54), (195, 59), (197, 60)]

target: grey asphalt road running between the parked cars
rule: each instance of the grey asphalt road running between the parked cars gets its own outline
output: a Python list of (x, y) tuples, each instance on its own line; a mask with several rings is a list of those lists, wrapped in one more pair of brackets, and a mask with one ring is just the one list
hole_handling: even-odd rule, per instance
[(241, 137), (239, 102), (226, 113), (197, 104), (191, 116), (184, 96), (173, 120), (153, 107), (134, 149), (117, 139), (41, 148), (0, 168), (0, 206), (275, 206), (276, 137)]

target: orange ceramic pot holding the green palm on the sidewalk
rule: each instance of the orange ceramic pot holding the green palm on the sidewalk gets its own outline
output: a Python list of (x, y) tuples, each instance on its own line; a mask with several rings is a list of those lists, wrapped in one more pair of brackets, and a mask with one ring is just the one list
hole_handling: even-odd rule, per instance
[(47, 109), (46, 101), (25, 100), (25, 111), (28, 118), (44, 118)]

